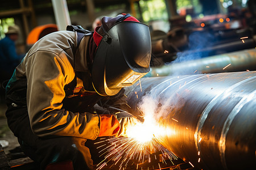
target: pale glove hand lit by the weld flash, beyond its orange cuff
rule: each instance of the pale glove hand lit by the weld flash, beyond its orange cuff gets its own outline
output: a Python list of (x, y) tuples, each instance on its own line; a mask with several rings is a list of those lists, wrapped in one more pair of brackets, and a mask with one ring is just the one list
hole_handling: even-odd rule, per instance
[(116, 114), (117, 120), (120, 124), (120, 130), (118, 131), (118, 134), (116, 137), (123, 136), (127, 137), (126, 130), (129, 126), (134, 126), (138, 123), (141, 123), (133, 114), (130, 114), (128, 112), (120, 112)]

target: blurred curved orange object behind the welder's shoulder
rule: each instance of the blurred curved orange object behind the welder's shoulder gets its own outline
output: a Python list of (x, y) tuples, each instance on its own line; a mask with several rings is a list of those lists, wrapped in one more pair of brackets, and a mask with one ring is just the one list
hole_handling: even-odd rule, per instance
[(35, 27), (27, 36), (27, 45), (33, 45), (43, 36), (56, 31), (58, 31), (56, 24), (46, 24)]

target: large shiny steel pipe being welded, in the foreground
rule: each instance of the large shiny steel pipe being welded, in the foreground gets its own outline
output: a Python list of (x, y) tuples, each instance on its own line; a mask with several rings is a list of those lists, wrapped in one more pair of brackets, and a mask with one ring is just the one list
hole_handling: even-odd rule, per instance
[(126, 96), (134, 113), (154, 109), (162, 145), (185, 162), (256, 169), (256, 71), (143, 78)]

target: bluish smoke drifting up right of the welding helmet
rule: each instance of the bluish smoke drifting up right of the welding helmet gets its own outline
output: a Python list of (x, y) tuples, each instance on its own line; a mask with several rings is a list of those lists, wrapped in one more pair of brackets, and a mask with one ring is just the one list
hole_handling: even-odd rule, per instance
[(202, 69), (205, 69), (203, 61), (204, 57), (211, 56), (214, 52), (212, 46), (216, 42), (216, 38), (210, 31), (192, 32), (188, 36), (189, 46), (187, 50), (178, 52), (176, 59), (166, 66), (153, 69), (152, 73), (159, 73), (161, 76), (179, 76), (201, 74)]

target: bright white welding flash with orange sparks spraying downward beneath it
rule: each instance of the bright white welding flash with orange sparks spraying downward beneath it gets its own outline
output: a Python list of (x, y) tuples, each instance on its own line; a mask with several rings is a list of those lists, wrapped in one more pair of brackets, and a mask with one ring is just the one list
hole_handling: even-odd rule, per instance
[[(177, 160), (177, 156), (160, 144), (162, 143), (159, 138), (162, 135), (161, 133), (168, 133), (169, 131), (158, 125), (152, 115), (144, 116), (144, 122), (127, 126), (126, 137), (106, 138), (107, 146), (97, 142), (98, 145), (101, 145), (97, 148), (102, 149), (99, 153), (103, 153), (101, 156), (104, 155), (104, 160), (97, 164), (98, 168), (96, 170), (101, 169), (107, 163), (111, 167), (118, 165), (120, 169), (125, 169), (128, 163), (133, 163), (137, 165), (137, 169), (141, 169), (142, 167), (139, 165), (145, 160), (151, 162), (150, 154), (156, 151), (162, 152), (165, 158)], [(156, 155), (155, 159), (157, 160)], [(134, 160), (136, 160), (136, 163)]]

